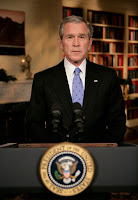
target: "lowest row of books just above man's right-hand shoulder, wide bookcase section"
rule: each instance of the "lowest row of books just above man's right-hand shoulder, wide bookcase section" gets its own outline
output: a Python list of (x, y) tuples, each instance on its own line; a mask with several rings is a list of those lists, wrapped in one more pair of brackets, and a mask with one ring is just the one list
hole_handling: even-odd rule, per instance
[(88, 54), (88, 59), (91, 62), (108, 67), (123, 66), (123, 56)]

